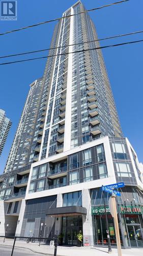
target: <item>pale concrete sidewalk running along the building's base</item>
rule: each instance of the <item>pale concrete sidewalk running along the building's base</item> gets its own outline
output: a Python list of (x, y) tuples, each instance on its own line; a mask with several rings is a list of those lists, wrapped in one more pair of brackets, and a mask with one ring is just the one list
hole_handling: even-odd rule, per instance
[[(6, 239), (5, 243), (3, 243), (3, 239), (0, 239), (0, 247), (3, 248), (3, 245), (11, 246), (13, 245), (13, 240)], [(38, 243), (29, 243), (23, 241), (16, 241), (16, 247), (26, 248), (35, 253), (41, 253), (44, 255), (53, 255), (54, 247), (43, 245), (41, 244), (40, 247)], [(57, 249), (57, 256), (107, 256), (108, 249), (102, 247), (67, 247), (67, 246), (58, 246)], [(122, 249), (123, 256), (142, 256), (143, 255), (143, 248), (134, 248), (134, 249)], [(112, 249), (112, 256), (118, 256), (117, 249)]]

